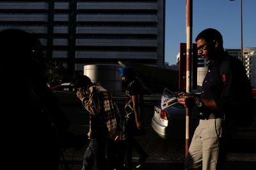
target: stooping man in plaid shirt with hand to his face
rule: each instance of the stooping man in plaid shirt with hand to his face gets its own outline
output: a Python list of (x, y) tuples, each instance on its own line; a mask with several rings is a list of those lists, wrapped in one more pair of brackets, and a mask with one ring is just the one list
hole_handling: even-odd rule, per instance
[[(113, 97), (99, 82), (92, 83), (88, 76), (76, 82), (77, 97), (90, 114), (88, 138), (90, 144), (84, 153), (83, 170), (94, 166), (109, 169), (109, 146), (120, 132), (120, 111)], [(108, 159), (107, 159), (108, 158)]]

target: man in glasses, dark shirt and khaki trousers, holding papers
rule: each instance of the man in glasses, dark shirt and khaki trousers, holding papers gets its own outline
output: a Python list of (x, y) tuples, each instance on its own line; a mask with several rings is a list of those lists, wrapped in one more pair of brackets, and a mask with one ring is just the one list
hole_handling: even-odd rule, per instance
[(246, 113), (246, 107), (241, 106), (248, 104), (252, 87), (241, 60), (224, 51), (219, 31), (205, 29), (195, 40), (198, 53), (209, 64), (201, 96), (178, 99), (180, 104), (197, 106), (200, 110), (200, 122), (189, 146), (185, 167), (222, 169), (237, 120), (241, 122)]

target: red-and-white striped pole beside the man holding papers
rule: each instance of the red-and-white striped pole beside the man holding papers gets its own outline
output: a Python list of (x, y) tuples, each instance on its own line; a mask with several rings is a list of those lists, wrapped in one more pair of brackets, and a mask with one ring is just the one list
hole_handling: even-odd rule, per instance
[[(191, 92), (191, 59), (192, 59), (192, 9), (193, 1), (186, 0), (186, 38), (187, 38), (187, 57), (186, 57), (186, 92)], [(191, 108), (186, 108), (186, 155), (188, 154), (189, 124)]]

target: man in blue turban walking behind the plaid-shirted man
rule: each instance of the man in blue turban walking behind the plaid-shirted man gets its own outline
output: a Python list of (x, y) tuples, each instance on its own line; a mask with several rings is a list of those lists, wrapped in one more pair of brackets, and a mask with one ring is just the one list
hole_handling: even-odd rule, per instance
[(148, 154), (143, 150), (134, 136), (145, 133), (143, 129), (143, 83), (136, 78), (136, 72), (130, 66), (119, 69), (122, 76), (122, 83), (125, 91), (125, 118), (124, 118), (124, 135), (127, 141), (125, 152), (125, 167), (132, 169), (132, 148), (139, 153), (139, 162), (136, 168), (140, 168)]

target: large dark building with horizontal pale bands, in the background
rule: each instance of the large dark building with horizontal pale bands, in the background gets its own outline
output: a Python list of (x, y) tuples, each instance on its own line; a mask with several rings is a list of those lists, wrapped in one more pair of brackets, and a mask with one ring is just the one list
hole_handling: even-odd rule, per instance
[(70, 76), (118, 60), (163, 66), (164, 17), (165, 0), (0, 2), (0, 30), (35, 32)]

